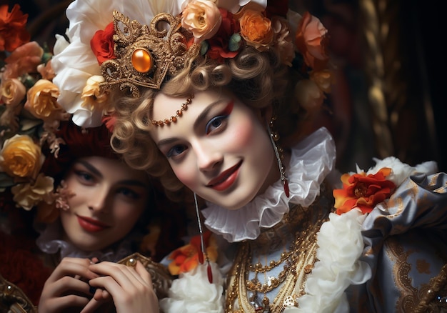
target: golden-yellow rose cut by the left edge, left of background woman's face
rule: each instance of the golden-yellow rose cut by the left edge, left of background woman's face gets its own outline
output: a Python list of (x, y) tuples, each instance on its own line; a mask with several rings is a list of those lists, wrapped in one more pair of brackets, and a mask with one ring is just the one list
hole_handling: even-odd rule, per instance
[(7, 139), (0, 151), (0, 168), (11, 177), (34, 178), (43, 162), (40, 146), (28, 135)]

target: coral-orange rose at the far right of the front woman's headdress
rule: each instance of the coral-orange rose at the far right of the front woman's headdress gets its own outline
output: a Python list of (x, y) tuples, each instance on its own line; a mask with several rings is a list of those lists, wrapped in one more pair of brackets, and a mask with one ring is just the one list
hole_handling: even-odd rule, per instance
[(320, 20), (306, 12), (295, 35), (295, 43), (298, 50), (303, 54), (304, 61), (315, 70), (325, 69), (328, 63), (326, 54), (328, 30), (321, 24)]

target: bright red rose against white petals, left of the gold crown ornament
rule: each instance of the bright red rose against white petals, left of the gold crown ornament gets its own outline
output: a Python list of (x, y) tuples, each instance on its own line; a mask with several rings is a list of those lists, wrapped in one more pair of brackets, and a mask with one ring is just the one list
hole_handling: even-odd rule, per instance
[(106, 26), (106, 29), (102, 31), (96, 31), (93, 38), (90, 41), (91, 50), (98, 59), (99, 65), (101, 65), (104, 61), (110, 59), (116, 59), (115, 56), (115, 42), (114, 42), (114, 34), (115, 28), (114, 23), (110, 23)]

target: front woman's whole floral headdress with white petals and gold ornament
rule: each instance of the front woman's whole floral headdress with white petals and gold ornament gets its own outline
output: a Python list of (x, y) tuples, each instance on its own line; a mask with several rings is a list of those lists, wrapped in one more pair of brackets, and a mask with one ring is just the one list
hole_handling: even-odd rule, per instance
[(59, 103), (75, 124), (98, 126), (114, 114), (106, 100), (111, 89), (139, 96), (138, 86), (159, 89), (199, 54), (224, 63), (246, 46), (275, 51), (306, 78), (296, 86), (304, 106), (322, 102), (332, 80), (327, 30), (287, 1), (271, 2), (76, 0), (67, 9), (66, 49), (53, 59)]

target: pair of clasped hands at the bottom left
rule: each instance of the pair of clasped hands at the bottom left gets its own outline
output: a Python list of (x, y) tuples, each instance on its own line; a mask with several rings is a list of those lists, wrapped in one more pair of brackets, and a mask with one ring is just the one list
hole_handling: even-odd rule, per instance
[(141, 262), (136, 267), (97, 259), (66, 257), (44, 284), (39, 312), (95, 312), (114, 304), (117, 313), (159, 312), (152, 279)]

